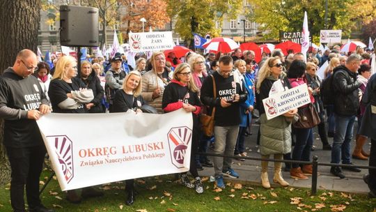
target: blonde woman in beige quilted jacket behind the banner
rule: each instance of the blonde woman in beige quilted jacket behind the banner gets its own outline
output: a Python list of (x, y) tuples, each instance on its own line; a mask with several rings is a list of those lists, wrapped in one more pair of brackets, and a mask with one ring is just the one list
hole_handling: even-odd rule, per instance
[(162, 96), (164, 87), (169, 84), (169, 73), (166, 68), (166, 57), (163, 52), (155, 52), (150, 59), (152, 70), (142, 76), (142, 97), (148, 105), (155, 107), (159, 113), (163, 113)]

